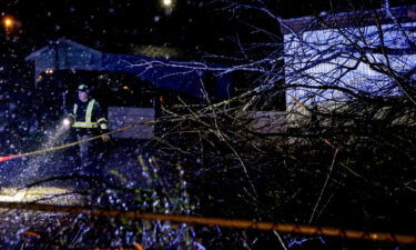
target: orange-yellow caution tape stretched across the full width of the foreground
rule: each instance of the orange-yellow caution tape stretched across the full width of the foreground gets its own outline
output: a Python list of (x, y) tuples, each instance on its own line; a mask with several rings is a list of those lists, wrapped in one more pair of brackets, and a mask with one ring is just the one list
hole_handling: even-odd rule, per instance
[(273, 223), (260, 222), (251, 220), (231, 220), (223, 218), (204, 218), (192, 216), (176, 216), (165, 213), (141, 213), (135, 211), (119, 211), (105, 209), (90, 209), (79, 206), (55, 206), (55, 204), (37, 204), (37, 203), (21, 203), (21, 202), (0, 202), (0, 208), (4, 209), (23, 209), (43, 212), (64, 212), (64, 213), (85, 213), (94, 217), (106, 218), (125, 218), (140, 219), (149, 221), (171, 221), (180, 223), (194, 223), (205, 226), (220, 226), (239, 229), (255, 229), (263, 231), (277, 231), (283, 233), (300, 233), (313, 236), (341, 237), (348, 239), (361, 239), (371, 241), (387, 241), (400, 244), (416, 244), (416, 236), (398, 234), (388, 232), (366, 232), (358, 230), (348, 230), (331, 227), (317, 227), (310, 224), (293, 224), (293, 223)]

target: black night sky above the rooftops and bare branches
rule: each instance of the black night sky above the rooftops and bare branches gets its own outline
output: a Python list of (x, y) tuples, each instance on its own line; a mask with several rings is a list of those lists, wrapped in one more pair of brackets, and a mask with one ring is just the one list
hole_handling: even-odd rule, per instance
[[(20, 23), (8, 38), (0, 31), (2, 44), (27, 54), (50, 40), (68, 38), (106, 52), (130, 53), (135, 46), (182, 48), (222, 53), (233, 47), (236, 34), (250, 37), (246, 22), (265, 26), (271, 21), (247, 12), (225, 11), (212, 0), (176, 0), (171, 14), (162, 0), (0, 0), (0, 13), (13, 16)], [(256, 2), (241, 0), (240, 2)], [(379, 7), (381, 0), (263, 0), (283, 18), (354, 8)], [(412, 1), (395, 0), (393, 4)], [(4, 48), (2, 48), (4, 52)]]

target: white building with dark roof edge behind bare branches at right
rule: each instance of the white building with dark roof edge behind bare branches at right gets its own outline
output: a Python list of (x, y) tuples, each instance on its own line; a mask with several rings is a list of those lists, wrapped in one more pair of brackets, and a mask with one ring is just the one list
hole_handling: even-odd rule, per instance
[(287, 111), (333, 107), (354, 93), (403, 94), (393, 73), (376, 68), (415, 79), (415, 13), (408, 6), (283, 20)]

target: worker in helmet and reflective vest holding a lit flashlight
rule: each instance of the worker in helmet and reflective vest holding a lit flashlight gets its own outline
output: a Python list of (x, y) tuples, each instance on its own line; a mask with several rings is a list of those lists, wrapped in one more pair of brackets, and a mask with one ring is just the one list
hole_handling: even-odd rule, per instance
[[(87, 140), (109, 132), (104, 112), (98, 101), (90, 97), (91, 90), (87, 84), (78, 87), (78, 100), (63, 121), (64, 129), (74, 130), (78, 141)], [(110, 136), (101, 137), (103, 142), (110, 140)], [(81, 173), (94, 177), (102, 176), (100, 162), (102, 153), (99, 152), (100, 140), (92, 140), (79, 144), (81, 160)]]

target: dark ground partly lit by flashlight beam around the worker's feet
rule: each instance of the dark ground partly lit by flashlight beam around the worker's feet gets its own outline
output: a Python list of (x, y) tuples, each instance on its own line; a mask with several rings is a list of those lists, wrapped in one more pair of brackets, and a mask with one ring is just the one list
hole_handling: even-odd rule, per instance
[[(87, 207), (91, 203), (94, 207), (100, 203), (111, 206), (112, 202), (116, 203), (118, 199), (115, 191), (111, 190), (116, 190), (118, 187), (134, 188), (143, 184), (138, 161), (139, 151), (143, 144), (143, 141), (113, 139), (105, 146), (105, 179), (102, 181), (106, 186), (100, 186), (99, 190), (93, 189), (97, 187), (97, 181), (78, 176), (73, 149), (2, 162), (0, 164), (0, 201), (37, 201), (38, 203)], [(44, 244), (48, 241), (50, 243), (45, 249), (53, 248), (54, 244), (57, 249), (60, 249), (62, 247), (60, 243), (67, 248), (93, 248), (98, 242), (105, 244), (109, 243), (109, 239), (114, 238), (112, 236), (106, 240), (97, 241), (97, 236), (106, 236), (100, 230), (108, 223), (95, 223), (97, 227), (89, 227), (92, 223), (91, 220), (87, 220), (82, 214), (9, 209), (2, 209), (0, 214), (0, 223), (8, 224), (0, 230), (1, 249), (13, 247), (35, 249), (39, 248), (40, 242)], [(53, 242), (54, 240), (58, 241)]]

